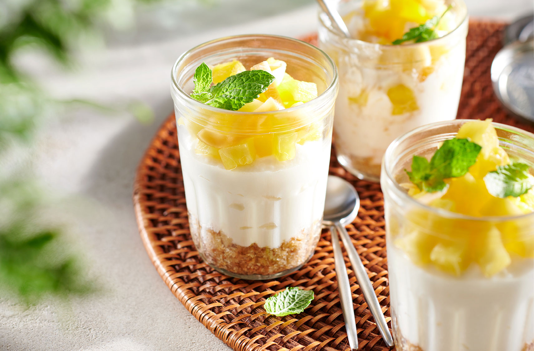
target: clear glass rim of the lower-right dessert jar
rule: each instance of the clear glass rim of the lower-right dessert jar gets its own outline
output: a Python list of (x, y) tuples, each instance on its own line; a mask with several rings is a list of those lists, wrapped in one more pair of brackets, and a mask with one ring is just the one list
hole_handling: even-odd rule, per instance
[[(400, 135), (397, 139), (391, 142), (391, 144), (388, 146), (386, 153), (384, 154), (383, 160), (382, 160), (382, 175), (386, 177), (386, 181), (389, 182), (390, 185), (392, 185), (392, 189), (395, 192), (395, 195), (402, 198), (403, 201), (407, 201), (408, 203), (418, 206), (419, 208), (425, 209), (426, 211), (433, 212), (437, 214), (438, 216), (449, 218), (449, 219), (460, 219), (460, 220), (470, 220), (470, 221), (481, 221), (481, 222), (505, 222), (510, 220), (518, 220), (523, 218), (534, 218), (534, 212), (531, 213), (525, 213), (520, 214), (519, 216), (485, 216), (485, 217), (474, 217), (474, 216), (468, 216), (466, 214), (456, 213), (452, 211), (448, 211), (445, 209), (435, 208), (426, 204), (423, 204), (415, 198), (408, 195), (406, 192), (406, 189), (404, 189), (400, 184), (395, 180), (393, 177), (393, 174), (391, 173), (391, 163), (388, 162), (391, 158), (391, 153), (393, 150), (400, 145), (400, 143), (404, 142), (407, 138), (410, 138), (411, 135), (417, 134), (419, 132), (425, 131), (427, 129), (430, 129), (432, 127), (447, 125), (447, 124), (464, 124), (467, 122), (476, 121), (476, 119), (453, 119), (452, 121), (444, 121), (444, 122), (437, 122), (437, 123), (431, 123), (426, 124), (420, 127), (417, 127), (407, 133), (404, 133), (403, 135)], [(505, 128), (509, 131), (512, 131), (516, 134), (524, 135), (525, 137), (531, 138), (534, 140), (534, 134), (527, 132), (525, 130), (522, 130), (520, 128), (502, 124), (502, 123), (491, 123), (494, 127), (501, 127)]]

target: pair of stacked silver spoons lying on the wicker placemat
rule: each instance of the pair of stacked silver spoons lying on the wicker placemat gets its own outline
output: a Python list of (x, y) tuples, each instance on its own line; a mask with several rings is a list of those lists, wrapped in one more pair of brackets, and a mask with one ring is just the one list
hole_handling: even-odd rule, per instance
[[(347, 326), (347, 336), (349, 337), (349, 344), (352, 346), (350, 340), (351, 337), (349, 334), (349, 329), (351, 333), (353, 332), (352, 326), (354, 325), (354, 338), (356, 338), (356, 323), (354, 319), (354, 308), (352, 307), (352, 294), (350, 292), (349, 277), (347, 275), (347, 270), (345, 267), (345, 262), (343, 260), (343, 255), (341, 253), (341, 248), (339, 245), (339, 238), (337, 238), (337, 233), (339, 231), (341, 235), (341, 240), (347, 250), (349, 256), (350, 264), (360, 288), (362, 289), (367, 302), (367, 306), (373, 314), (374, 321), (378, 326), (378, 330), (386, 345), (393, 346), (393, 338), (389, 332), (388, 324), (386, 323), (386, 318), (382, 313), (382, 309), (374, 293), (373, 285), (369, 276), (365, 272), (365, 267), (362, 264), (362, 260), (356, 248), (350, 241), (349, 234), (345, 225), (350, 224), (358, 215), (358, 209), (360, 208), (360, 198), (356, 189), (350, 185), (350, 183), (334, 175), (328, 175), (328, 183), (326, 185), (326, 200), (325, 200), (325, 211), (323, 217), (323, 225), (329, 226), (332, 232), (332, 247), (334, 249), (334, 260), (335, 260), (335, 270), (337, 282), (340, 286), (340, 297), (341, 297), (341, 308), (343, 310), (343, 317), (345, 319), (345, 326)], [(336, 252), (337, 251), (337, 252)], [(339, 262), (339, 264), (338, 264)], [(338, 267), (339, 266), (339, 267)], [(340, 277), (341, 276), (341, 277)], [(344, 291), (343, 291), (344, 290)], [(348, 292), (347, 292), (348, 291)], [(344, 296), (348, 294), (348, 301)], [(345, 300), (345, 302), (343, 302)], [(350, 311), (345, 314), (345, 305), (349, 305)], [(352, 323), (350, 323), (350, 318)], [(347, 321), (349, 319), (349, 321)], [(358, 341), (356, 339), (356, 348), (358, 347)]]

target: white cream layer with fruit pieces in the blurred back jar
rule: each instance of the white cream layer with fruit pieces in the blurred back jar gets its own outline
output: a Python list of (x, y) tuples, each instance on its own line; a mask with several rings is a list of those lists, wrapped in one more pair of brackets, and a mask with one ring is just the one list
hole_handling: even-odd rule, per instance
[[(342, 154), (370, 158), (380, 164), (387, 147), (399, 135), (425, 124), (456, 118), (465, 62), (465, 51), (459, 49), (439, 59), (433, 73), (423, 82), (419, 82), (415, 69), (403, 71), (399, 67), (383, 66), (377, 69), (369, 67), (369, 63), (362, 67), (356, 57), (339, 57), (340, 86), (334, 118), (336, 148)], [(387, 92), (398, 84), (413, 91), (418, 110), (392, 114)], [(364, 106), (354, 101), (362, 92), (368, 94)]]

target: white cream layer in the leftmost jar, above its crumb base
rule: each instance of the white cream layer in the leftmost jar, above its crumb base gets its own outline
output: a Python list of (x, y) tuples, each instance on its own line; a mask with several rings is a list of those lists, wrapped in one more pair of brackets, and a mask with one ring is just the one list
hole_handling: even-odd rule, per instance
[(297, 144), (292, 160), (262, 157), (234, 170), (195, 154), (197, 140), (184, 125), (178, 141), (187, 210), (202, 229), (221, 231), (237, 245), (278, 248), (323, 218), (329, 138)]

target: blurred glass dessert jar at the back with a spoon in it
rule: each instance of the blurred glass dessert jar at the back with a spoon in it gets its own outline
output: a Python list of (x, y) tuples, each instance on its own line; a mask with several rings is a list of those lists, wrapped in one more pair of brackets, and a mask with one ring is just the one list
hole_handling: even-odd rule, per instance
[[(335, 62), (340, 76), (334, 119), (337, 159), (360, 179), (379, 181), (382, 156), (399, 135), (456, 118), (468, 19), (462, 0), (447, 2), (453, 4), (449, 14), (455, 29), (413, 44), (348, 39), (332, 28), (324, 13), (319, 15), (319, 47)], [(363, 3), (338, 4), (351, 31), (366, 20)]]

